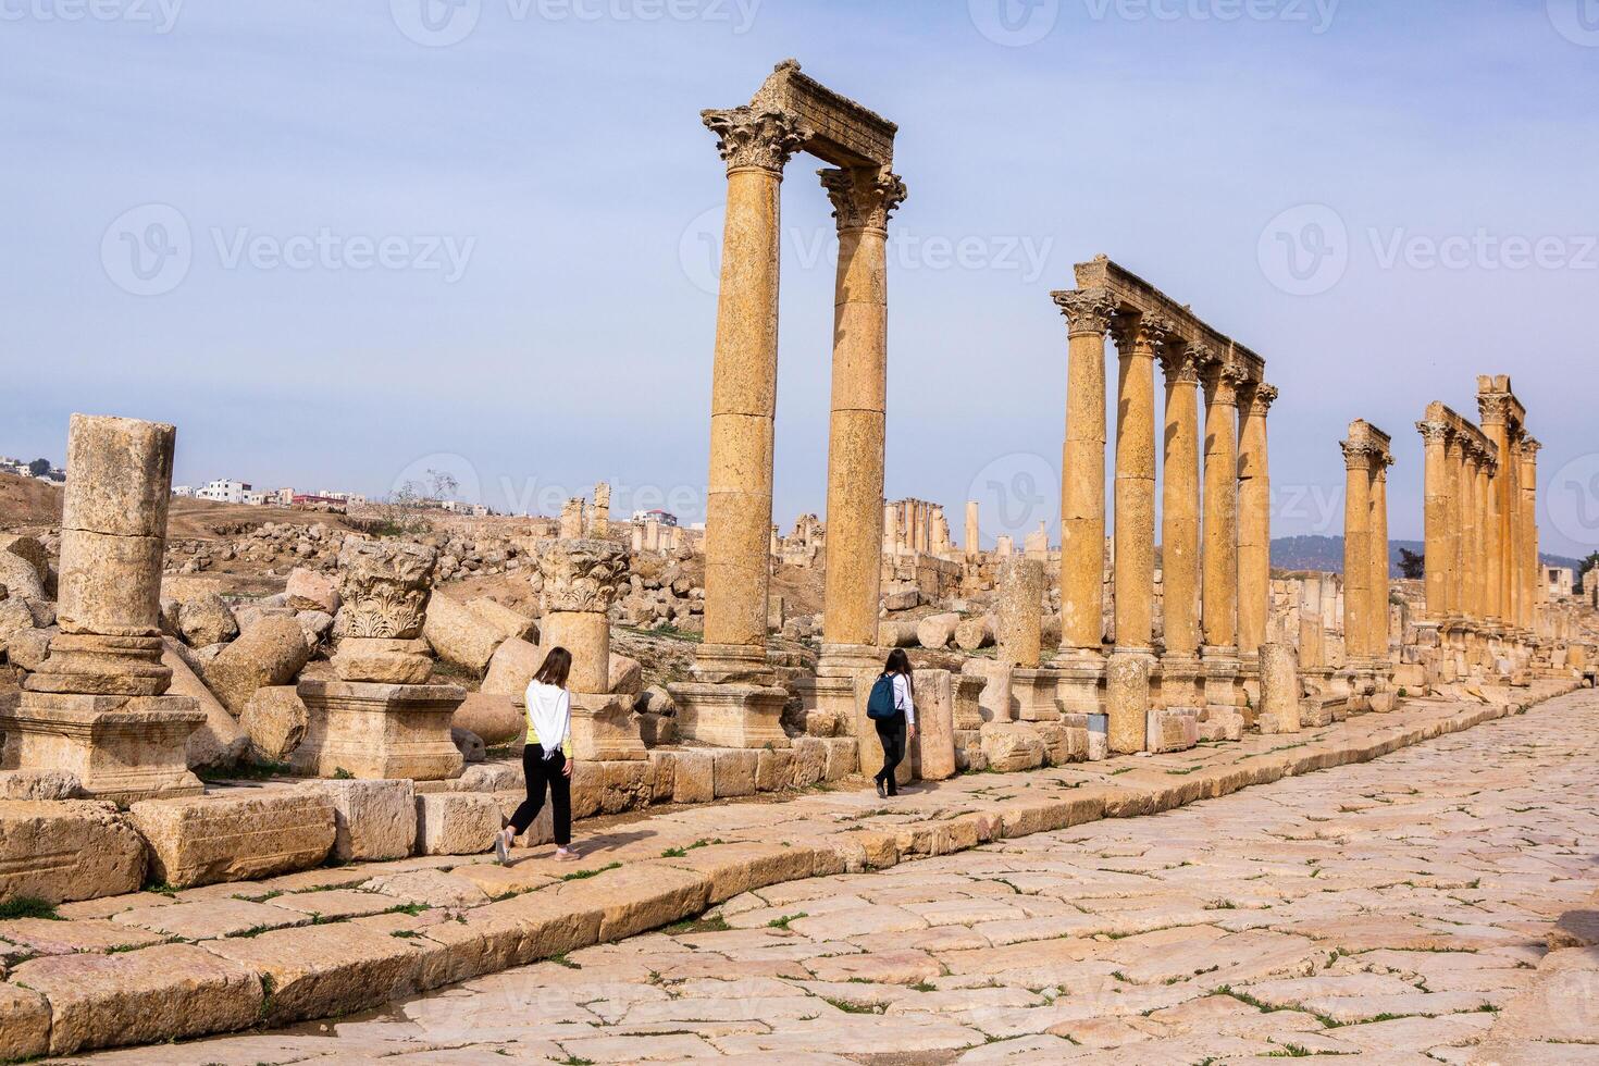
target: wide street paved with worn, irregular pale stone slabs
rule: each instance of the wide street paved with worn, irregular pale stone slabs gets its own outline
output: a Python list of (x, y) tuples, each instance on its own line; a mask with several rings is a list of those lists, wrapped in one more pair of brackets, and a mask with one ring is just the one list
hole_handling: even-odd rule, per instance
[[(138, 1063), (1599, 1063), (1599, 695)], [(1553, 964), (1553, 965), (1551, 965)], [(1529, 1044), (1529, 1040), (1543, 1040)]]

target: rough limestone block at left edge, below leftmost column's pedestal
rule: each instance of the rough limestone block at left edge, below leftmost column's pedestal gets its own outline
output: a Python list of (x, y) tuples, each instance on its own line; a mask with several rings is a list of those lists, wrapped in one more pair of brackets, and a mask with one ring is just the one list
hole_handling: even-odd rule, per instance
[(142, 881), (144, 841), (114, 804), (0, 801), (0, 900), (98, 900)]

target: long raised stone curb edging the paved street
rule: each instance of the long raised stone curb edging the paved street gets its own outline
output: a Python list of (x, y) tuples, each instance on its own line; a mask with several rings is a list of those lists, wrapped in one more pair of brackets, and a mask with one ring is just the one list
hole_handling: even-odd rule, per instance
[(1234, 766), (1190, 772), (1134, 764), (1102, 783), (1071, 785), (1065, 796), (1006, 799), (987, 810), (892, 828), (820, 831), (780, 844), (716, 842), (574, 871), (566, 881), (528, 876), (520, 889), (510, 874), (505, 884), (513, 887), (470, 909), (285, 924), (115, 954), (48, 954), (18, 964), (0, 983), (0, 1060), (345, 1015), (692, 919), (774, 884), (884, 869), (1100, 818), (1159, 813), (1284, 777), (1369, 762), (1522, 713), (1575, 687), (1548, 682), (1525, 703), (1469, 705), (1422, 724), (1378, 727), (1377, 735), (1286, 745)]

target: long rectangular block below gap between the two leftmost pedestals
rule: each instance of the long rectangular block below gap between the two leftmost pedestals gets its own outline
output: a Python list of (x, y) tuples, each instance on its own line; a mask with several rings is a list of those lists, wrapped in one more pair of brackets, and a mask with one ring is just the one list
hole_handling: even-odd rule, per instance
[(333, 799), (310, 788), (149, 799), (128, 810), (150, 845), (150, 876), (174, 889), (320, 866), (333, 849)]

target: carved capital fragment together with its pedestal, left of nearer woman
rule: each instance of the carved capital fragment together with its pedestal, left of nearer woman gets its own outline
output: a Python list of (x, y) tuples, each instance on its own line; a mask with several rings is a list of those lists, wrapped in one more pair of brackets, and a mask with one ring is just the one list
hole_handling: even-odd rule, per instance
[(437, 563), (427, 545), (344, 539), (333, 622), (337, 681), (299, 682), (310, 718), (289, 759), (296, 774), (422, 782), (461, 774), (449, 729), (467, 694), (427, 684), (433, 657), (422, 626)]

